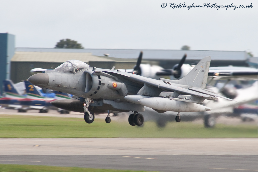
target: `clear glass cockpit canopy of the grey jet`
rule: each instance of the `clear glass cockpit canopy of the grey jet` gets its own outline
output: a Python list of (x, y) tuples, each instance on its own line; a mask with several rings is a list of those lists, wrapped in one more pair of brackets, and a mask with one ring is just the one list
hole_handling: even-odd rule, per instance
[(76, 73), (83, 69), (88, 69), (90, 66), (79, 60), (68, 60), (55, 68), (59, 72)]

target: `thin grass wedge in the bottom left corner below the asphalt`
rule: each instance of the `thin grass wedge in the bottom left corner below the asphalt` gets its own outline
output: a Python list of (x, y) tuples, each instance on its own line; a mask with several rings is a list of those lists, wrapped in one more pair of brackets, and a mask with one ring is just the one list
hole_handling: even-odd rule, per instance
[[(1, 172), (140, 172), (133, 170), (0, 164)], [(141, 171), (144, 172), (144, 171)]]

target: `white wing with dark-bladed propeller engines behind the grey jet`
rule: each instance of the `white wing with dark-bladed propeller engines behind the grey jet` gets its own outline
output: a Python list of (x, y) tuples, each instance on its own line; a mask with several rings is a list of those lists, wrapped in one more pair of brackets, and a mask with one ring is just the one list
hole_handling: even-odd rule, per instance
[[(135, 73), (137, 75), (159, 79), (160, 76), (170, 76), (171, 80), (179, 80), (186, 76), (192, 70), (194, 65), (184, 64), (187, 55), (184, 54), (179, 64), (173, 66), (172, 69), (164, 69), (157, 65), (141, 64), (143, 52), (141, 51), (133, 69), (127, 69), (126, 72)], [(32, 71), (40, 71), (32, 69)], [(125, 71), (124, 69), (118, 69)], [(239, 80), (257, 80), (258, 71), (251, 67), (210, 67), (208, 79), (239, 79)]]

